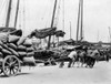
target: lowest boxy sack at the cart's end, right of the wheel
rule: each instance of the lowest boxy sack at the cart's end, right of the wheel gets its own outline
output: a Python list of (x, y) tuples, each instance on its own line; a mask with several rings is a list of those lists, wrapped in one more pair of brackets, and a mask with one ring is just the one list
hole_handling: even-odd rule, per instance
[(29, 66), (36, 66), (36, 60), (33, 56), (31, 57), (23, 57), (23, 64)]

